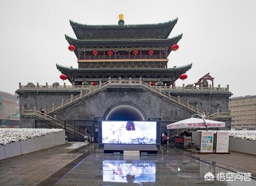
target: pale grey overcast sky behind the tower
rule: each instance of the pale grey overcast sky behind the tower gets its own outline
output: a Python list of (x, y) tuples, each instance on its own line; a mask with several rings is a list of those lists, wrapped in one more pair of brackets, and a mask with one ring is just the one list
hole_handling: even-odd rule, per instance
[(0, 91), (14, 94), (19, 82), (63, 84), (55, 64), (78, 68), (64, 37), (75, 37), (69, 20), (117, 24), (120, 13), (125, 24), (178, 17), (169, 37), (183, 37), (168, 68), (193, 66), (176, 86), (210, 72), (214, 86), (230, 85), (232, 97), (256, 94), (256, 1), (192, 0), (0, 0)]

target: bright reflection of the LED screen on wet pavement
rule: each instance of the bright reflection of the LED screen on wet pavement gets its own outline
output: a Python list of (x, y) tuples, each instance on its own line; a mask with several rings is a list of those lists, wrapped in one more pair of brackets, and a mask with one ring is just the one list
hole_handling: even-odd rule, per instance
[(141, 183), (156, 181), (153, 161), (103, 160), (103, 181)]

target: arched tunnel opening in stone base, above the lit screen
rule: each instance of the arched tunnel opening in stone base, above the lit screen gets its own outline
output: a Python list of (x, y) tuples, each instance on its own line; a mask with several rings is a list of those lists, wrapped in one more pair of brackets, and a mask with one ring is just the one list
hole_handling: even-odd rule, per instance
[(135, 107), (130, 105), (120, 105), (110, 110), (106, 116), (106, 120), (144, 121), (145, 118)]

